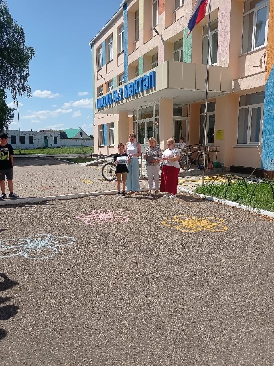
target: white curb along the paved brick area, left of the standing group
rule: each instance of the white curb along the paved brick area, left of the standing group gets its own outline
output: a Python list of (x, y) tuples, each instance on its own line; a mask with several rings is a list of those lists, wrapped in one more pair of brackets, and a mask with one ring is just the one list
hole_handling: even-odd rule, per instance
[[(148, 191), (148, 188), (140, 188), (140, 192)], [(37, 203), (45, 201), (57, 201), (59, 199), (74, 199), (91, 196), (102, 196), (108, 194), (117, 194), (117, 191), (103, 191), (103, 192), (90, 192), (90, 193), (74, 193), (74, 194), (63, 194), (58, 196), (47, 196), (47, 197), (30, 197), (30, 198), (18, 198), (18, 199), (7, 199), (0, 201), (0, 206), (8, 205), (21, 205), (22, 203)]]

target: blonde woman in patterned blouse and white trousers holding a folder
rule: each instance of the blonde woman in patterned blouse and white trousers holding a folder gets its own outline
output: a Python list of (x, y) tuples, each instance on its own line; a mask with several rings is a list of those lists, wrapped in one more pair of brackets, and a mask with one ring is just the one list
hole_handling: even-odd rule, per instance
[(153, 159), (153, 157), (162, 158), (162, 151), (159, 146), (157, 146), (157, 141), (154, 137), (151, 137), (147, 143), (149, 147), (145, 149), (144, 153), (144, 160), (146, 160), (146, 167), (147, 167), (147, 175), (148, 175), (148, 195), (151, 195), (152, 187), (153, 187), (153, 178), (155, 184), (155, 194), (159, 194), (160, 188), (160, 161), (157, 159)]

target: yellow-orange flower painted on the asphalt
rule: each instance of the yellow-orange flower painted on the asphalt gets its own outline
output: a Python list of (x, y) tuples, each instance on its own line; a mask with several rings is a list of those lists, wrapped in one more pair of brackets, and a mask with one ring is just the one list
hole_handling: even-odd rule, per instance
[(173, 220), (163, 221), (165, 226), (175, 227), (177, 230), (186, 232), (205, 231), (226, 231), (227, 227), (222, 225), (225, 221), (216, 217), (197, 217), (179, 215), (174, 216)]

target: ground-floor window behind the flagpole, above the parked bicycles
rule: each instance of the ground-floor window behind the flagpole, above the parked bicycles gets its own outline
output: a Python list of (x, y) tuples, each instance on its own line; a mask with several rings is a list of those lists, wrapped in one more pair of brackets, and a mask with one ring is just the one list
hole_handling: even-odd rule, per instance
[[(200, 105), (200, 135), (199, 143), (204, 143), (204, 104)], [(207, 141), (208, 145), (214, 143), (215, 134), (215, 102), (207, 103)]]

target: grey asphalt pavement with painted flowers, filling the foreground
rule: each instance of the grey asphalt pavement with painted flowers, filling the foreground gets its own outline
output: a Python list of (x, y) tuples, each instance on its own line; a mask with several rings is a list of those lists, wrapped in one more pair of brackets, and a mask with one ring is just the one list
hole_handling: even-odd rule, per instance
[(0, 208), (0, 365), (274, 365), (274, 221), (178, 197)]

